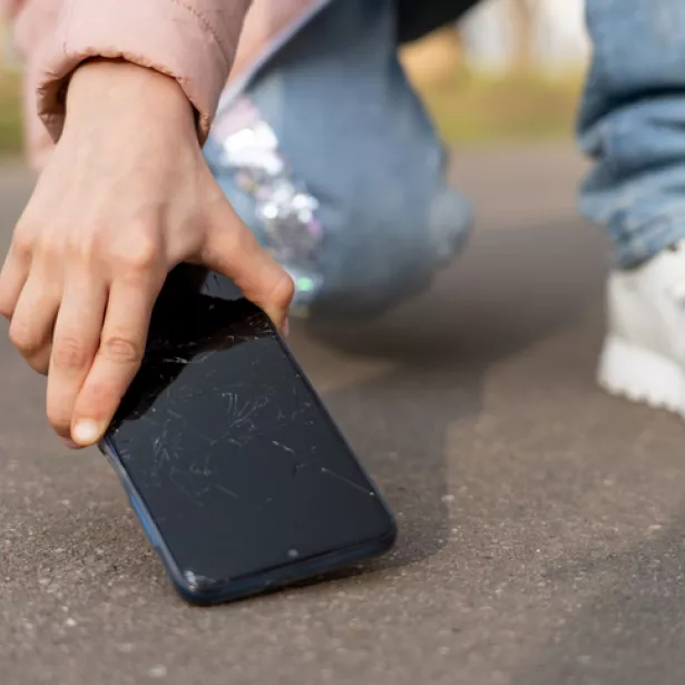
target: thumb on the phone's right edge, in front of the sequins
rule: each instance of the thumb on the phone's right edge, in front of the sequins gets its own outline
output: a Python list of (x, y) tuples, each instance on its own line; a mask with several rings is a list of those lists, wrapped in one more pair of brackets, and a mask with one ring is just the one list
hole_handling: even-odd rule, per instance
[(231, 278), (281, 330), (285, 327), (293, 281), (223, 197), (212, 203), (202, 261)]

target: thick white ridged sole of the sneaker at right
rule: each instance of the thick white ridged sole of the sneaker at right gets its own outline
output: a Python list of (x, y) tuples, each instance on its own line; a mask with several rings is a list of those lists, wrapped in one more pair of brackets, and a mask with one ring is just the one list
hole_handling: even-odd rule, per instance
[(597, 381), (613, 395), (685, 418), (685, 371), (667, 356), (609, 336), (599, 360)]

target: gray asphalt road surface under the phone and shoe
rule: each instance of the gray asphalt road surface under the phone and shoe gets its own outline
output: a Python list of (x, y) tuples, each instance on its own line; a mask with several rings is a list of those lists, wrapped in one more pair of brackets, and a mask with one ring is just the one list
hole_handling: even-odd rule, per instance
[[(462, 156), (469, 253), (382, 322), (296, 332), (401, 523), (363, 575), (185, 606), (2, 335), (0, 681), (681, 685), (685, 427), (593, 384), (606, 245), (574, 214), (581, 169), (566, 149)], [(0, 172), (4, 242), (28, 187)]]

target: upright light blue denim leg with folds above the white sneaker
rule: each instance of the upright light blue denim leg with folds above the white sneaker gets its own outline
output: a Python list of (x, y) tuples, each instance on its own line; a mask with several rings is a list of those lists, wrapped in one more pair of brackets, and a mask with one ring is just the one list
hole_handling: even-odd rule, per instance
[(580, 205), (630, 267), (685, 237), (685, 2), (587, 0), (587, 21)]

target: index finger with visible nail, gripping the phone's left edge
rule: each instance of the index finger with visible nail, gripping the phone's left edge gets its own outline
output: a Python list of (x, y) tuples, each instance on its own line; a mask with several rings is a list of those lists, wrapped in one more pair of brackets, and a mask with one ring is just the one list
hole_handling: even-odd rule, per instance
[(71, 437), (81, 447), (96, 443), (140, 368), (150, 315), (163, 277), (115, 281), (97, 355), (74, 407)]

